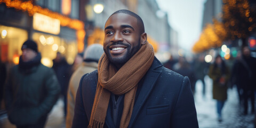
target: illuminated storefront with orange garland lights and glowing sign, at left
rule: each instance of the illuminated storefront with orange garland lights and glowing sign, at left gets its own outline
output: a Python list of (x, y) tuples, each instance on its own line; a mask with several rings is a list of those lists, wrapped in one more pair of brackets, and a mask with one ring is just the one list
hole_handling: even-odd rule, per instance
[[(19, 63), (21, 45), (33, 39), (42, 54), (41, 62), (52, 67), (52, 60), (60, 52), (71, 65), (76, 54), (84, 50), (84, 23), (52, 12), (31, 1), (0, 0), (1, 61)], [(17, 61), (18, 60), (18, 61)]]

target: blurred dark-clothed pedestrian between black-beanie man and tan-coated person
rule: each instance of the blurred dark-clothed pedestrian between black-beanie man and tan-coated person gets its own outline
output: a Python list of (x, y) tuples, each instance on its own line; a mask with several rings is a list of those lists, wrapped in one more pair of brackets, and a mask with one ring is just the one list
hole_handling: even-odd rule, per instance
[(68, 83), (72, 74), (72, 66), (68, 64), (65, 57), (62, 56), (60, 52), (57, 52), (56, 58), (53, 60), (53, 70), (58, 78), (61, 87), (61, 98), (63, 98), (64, 109), (63, 113), (66, 117), (67, 115), (67, 92)]

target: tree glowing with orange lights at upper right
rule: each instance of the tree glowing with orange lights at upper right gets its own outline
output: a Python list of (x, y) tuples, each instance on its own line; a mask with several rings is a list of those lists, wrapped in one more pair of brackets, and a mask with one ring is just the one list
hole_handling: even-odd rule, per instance
[(247, 0), (222, 1), (223, 23), (213, 19), (213, 25), (206, 25), (198, 41), (193, 46), (192, 50), (195, 53), (209, 50), (212, 47), (220, 47), (223, 41), (229, 39), (247, 38), (255, 31), (256, 12), (253, 10), (255, 5), (249, 6)]

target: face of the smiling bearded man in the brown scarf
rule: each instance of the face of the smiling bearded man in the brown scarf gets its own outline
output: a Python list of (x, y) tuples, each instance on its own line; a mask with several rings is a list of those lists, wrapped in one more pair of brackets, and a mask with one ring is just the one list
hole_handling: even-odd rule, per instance
[(105, 24), (103, 49), (109, 61), (123, 65), (141, 47), (140, 27), (137, 19), (129, 14), (111, 15)]

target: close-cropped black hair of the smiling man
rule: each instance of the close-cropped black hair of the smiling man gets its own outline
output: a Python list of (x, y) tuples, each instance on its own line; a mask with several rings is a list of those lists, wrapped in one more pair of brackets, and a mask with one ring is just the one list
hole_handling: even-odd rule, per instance
[(125, 13), (125, 14), (129, 14), (132, 17), (136, 18), (137, 24), (138, 24), (138, 26), (140, 26), (140, 34), (145, 33), (144, 23), (138, 14), (136, 14), (132, 11), (129, 11), (129, 10), (118, 10), (118, 11), (114, 12), (113, 14), (111, 14), (110, 17), (116, 13)]

